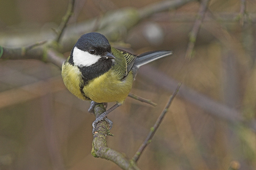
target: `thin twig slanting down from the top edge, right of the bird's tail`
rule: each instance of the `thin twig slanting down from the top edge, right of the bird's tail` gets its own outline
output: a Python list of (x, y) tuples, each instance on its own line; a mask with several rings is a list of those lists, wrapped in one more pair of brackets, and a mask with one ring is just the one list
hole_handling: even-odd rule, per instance
[(198, 11), (197, 20), (195, 21), (194, 27), (189, 34), (189, 42), (188, 42), (187, 51), (186, 51), (186, 59), (188, 60), (190, 60), (191, 56), (193, 55), (195, 42), (197, 40), (197, 34), (200, 30), (209, 1), (210, 0), (203, 0), (201, 2), (201, 6)]

